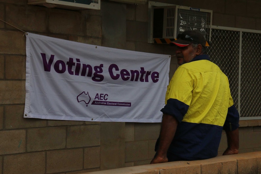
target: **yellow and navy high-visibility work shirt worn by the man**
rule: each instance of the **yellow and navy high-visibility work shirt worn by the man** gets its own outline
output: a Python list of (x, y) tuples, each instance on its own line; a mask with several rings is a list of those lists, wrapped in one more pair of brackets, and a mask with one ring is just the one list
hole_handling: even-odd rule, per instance
[(177, 68), (165, 104), (161, 111), (179, 122), (168, 153), (183, 160), (217, 156), (226, 119), (224, 129), (239, 126), (228, 78), (206, 54)]

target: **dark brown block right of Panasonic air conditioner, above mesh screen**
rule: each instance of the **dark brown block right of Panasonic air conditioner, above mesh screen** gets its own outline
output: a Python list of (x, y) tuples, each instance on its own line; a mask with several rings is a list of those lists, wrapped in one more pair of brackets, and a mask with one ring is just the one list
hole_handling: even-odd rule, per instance
[(214, 13), (212, 25), (223, 27), (235, 27), (236, 17), (234, 15)]

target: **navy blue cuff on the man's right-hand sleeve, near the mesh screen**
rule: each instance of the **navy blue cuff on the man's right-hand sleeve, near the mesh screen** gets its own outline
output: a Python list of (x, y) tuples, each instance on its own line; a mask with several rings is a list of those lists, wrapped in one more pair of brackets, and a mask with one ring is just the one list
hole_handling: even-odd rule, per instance
[(236, 130), (239, 127), (239, 113), (236, 110), (235, 105), (228, 108), (226, 115), (226, 121), (223, 126), (223, 130)]

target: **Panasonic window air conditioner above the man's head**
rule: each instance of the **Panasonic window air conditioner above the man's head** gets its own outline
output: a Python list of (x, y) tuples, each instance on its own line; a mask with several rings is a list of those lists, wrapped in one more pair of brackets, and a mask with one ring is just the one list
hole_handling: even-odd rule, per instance
[(210, 42), (212, 10), (149, 1), (148, 43), (169, 44), (185, 30), (201, 32)]

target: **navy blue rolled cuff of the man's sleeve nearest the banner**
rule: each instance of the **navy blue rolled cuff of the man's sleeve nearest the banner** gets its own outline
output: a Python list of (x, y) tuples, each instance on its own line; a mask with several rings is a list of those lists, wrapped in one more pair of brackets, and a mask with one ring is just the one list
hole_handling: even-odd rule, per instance
[(189, 105), (177, 100), (170, 98), (167, 100), (167, 104), (160, 111), (172, 115), (180, 123), (183, 120), (184, 115), (187, 113)]

